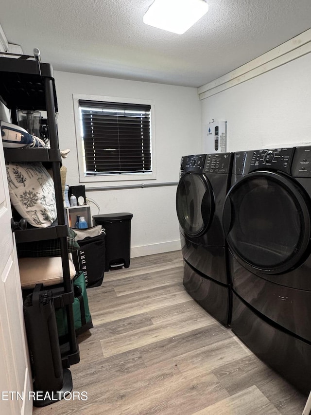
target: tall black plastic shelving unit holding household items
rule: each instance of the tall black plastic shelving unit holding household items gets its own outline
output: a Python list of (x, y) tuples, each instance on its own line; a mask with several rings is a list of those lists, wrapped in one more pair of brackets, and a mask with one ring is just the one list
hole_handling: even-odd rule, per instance
[[(57, 99), (52, 65), (41, 63), (34, 56), (5, 54), (0, 57), (0, 101), (10, 110), (11, 122), (17, 124), (17, 110), (38, 110), (47, 112), (51, 149), (47, 148), (5, 148), (6, 162), (49, 162), (54, 180), (57, 221), (48, 228), (16, 230), (16, 242), (31, 242), (59, 238), (63, 283), (54, 287), (52, 296), (56, 306), (65, 306), (68, 322), (68, 347), (62, 348), (61, 359), (64, 367), (78, 363), (79, 347), (74, 329), (72, 303), (74, 295), (70, 280), (69, 254), (66, 224), (61, 187), (61, 155), (56, 126)], [(47, 289), (53, 289), (47, 287)]]

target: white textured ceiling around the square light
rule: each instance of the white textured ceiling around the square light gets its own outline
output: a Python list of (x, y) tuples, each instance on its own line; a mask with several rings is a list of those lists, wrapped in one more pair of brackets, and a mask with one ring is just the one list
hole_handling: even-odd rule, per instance
[(153, 0), (1, 0), (0, 25), (54, 70), (199, 87), (311, 28), (311, 0), (207, 0), (184, 35), (142, 22)]

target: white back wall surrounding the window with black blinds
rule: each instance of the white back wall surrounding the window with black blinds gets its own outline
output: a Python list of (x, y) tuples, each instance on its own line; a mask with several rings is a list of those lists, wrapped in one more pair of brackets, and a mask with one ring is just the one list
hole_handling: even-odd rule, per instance
[[(67, 183), (78, 185), (78, 161), (72, 94), (93, 94), (152, 100), (155, 104), (156, 180), (143, 183), (177, 182), (180, 158), (195, 154), (201, 145), (200, 101), (196, 88), (127, 81), (68, 72), (54, 72), (58, 101), (58, 133), (61, 149), (70, 148), (63, 164)], [(137, 184), (114, 181), (103, 186)], [(86, 184), (95, 187), (97, 184)], [(100, 214), (131, 212), (131, 256), (180, 249), (175, 211), (176, 186), (126, 190), (86, 191), (96, 200)], [(91, 205), (92, 215), (98, 214)]]

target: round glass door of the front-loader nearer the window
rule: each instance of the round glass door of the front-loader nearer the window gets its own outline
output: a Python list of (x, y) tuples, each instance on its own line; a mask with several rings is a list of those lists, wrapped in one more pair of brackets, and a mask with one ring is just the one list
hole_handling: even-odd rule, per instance
[(203, 175), (185, 173), (179, 180), (176, 194), (177, 217), (186, 235), (203, 235), (214, 212), (211, 185)]

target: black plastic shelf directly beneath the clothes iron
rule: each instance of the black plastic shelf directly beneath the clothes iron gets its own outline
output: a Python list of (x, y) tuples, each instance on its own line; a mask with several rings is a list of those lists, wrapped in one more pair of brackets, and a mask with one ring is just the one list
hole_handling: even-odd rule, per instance
[(6, 162), (61, 162), (58, 148), (4, 148)]

